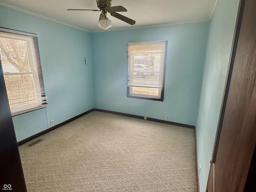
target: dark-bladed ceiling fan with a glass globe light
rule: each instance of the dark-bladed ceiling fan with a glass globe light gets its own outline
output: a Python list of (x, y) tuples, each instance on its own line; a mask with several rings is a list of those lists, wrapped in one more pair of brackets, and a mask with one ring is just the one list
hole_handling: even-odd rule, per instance
[(110, 15), (112, 15), (115, 18), (118, 18), (130, 25), (134, 25), (136, 21), (123, 16), (116, 12), (126, 12), (126, 8), (123, 6), (111, 6), (112, 0), (96, 0), (97, 6), (100, 10), (97, 9), (68, 9), (68, 10), (74, 10), (74, 11), (101, 11), (100, 19), (98, 21), (98, 26), (104, 30), (107, 30), (111, 27), (111, 20), (107, 18), (107, 13), (109, 12)]

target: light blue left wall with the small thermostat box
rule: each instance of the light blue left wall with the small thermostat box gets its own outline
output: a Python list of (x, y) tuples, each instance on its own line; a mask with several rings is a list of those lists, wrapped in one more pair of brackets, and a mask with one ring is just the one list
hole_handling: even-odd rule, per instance
[(0, 27), (38, 34), (47, 108), (13, 117), (17, 140), (23, 140), (94, 108), (91, 34), (0, 6)]

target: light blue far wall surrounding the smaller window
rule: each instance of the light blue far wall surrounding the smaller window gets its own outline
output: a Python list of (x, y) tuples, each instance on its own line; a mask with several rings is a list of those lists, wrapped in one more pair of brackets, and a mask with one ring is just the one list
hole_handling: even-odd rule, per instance
[[(208, 22), (92, 33), (95, 108), (196, 125)], [(164, 102), (127, 98), (127, 43), (167, 40)]]

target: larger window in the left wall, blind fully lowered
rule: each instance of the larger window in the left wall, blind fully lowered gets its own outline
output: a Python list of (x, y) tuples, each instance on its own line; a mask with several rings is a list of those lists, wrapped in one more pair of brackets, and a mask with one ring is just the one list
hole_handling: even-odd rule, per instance
[(12, 116), (47, 106), (37, 36), (0, 28), (0, 64)]

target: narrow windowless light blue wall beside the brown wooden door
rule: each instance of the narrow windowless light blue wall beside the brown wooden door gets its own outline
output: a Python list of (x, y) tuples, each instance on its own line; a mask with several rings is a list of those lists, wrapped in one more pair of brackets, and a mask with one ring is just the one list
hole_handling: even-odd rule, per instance
[(206, 190), (239, 0), (219, 0), (210, 20), (204, 77), (196, 124), (200, 190)]

